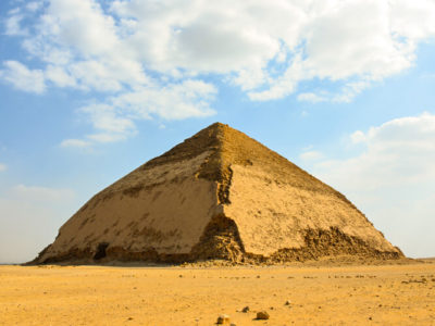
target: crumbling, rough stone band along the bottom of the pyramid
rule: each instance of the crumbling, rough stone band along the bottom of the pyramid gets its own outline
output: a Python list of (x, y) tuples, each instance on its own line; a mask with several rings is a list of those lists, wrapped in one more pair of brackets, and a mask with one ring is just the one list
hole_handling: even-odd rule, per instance
[(217, 215), (207, 226), (200, 241), (189, 253), (159, 253), (150, 248), (144, 251), (130, 251), (110, 243), (99, 243), (97, 249), (72, 249), (59, 255), (42, 260), (46, 248), (29, 264), (108, 264), (119, 263), (158, 263), (182, 264), (199, 261), (221, 260), (231, 264), (284, 264), (288, 262), (306, 262), (332, 259), (334, 256), (355, 256), (369, 260), (399, 260), (403, 253), (397, 251), (378, 251), (357, 237), (348, 236), (338, 228), (306, 229), (304, 244), (301, 248), (283, 248), (270, 254), (253, 254), (245, 251), (238, 229), (234, 221)]

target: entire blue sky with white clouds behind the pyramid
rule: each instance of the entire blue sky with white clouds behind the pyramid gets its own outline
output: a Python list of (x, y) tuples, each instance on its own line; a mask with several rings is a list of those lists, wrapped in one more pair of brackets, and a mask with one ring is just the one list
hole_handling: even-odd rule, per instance
[(0, 2), (0, 263), (216, 121), (435, 255), (434, 1)]

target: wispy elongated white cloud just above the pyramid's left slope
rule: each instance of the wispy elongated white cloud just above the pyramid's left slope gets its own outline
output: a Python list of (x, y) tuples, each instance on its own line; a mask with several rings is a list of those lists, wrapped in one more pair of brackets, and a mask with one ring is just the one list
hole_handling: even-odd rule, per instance
[(87, 147), (95, 142), (124, 140), (137, 133), (136, 120), (209, 116), (214, 113), (209, 102), (215, 92), (211, 84), (186, 79), (163, 88), (141, 87), (111, 97), (107, 103), (92, 103), (80, 109), (98, 133), (86, 135), (86, 140), (63, 140), (61, 146)]

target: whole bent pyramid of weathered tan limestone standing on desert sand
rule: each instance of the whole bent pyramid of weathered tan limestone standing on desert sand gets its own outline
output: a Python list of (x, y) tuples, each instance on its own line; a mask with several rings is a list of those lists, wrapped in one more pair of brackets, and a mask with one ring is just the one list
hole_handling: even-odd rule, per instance
[(403, 256), (341, 193), (215, 123), (91, 198), (34, 263)]

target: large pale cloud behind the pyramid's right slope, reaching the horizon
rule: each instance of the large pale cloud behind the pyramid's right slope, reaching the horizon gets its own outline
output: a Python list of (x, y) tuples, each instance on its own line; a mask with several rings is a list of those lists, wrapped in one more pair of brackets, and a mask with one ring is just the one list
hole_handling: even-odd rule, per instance
[(324, 159), (309, 170), (348, 196), (406, 253), (434, 255), (435, 115), (391, 120), (349, 138), (363, 146), (358, 155)]

